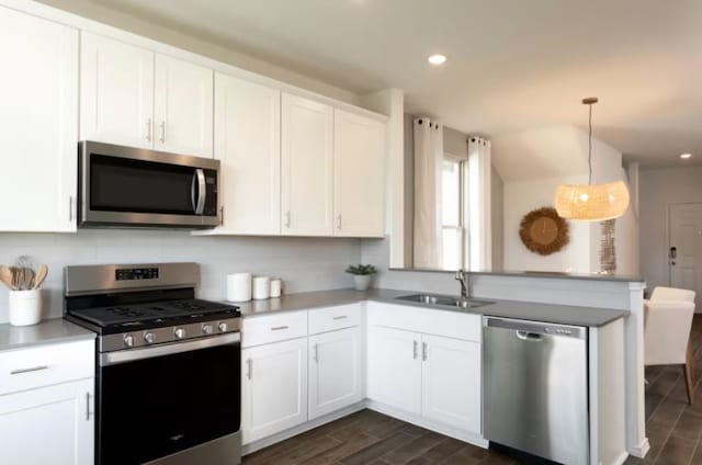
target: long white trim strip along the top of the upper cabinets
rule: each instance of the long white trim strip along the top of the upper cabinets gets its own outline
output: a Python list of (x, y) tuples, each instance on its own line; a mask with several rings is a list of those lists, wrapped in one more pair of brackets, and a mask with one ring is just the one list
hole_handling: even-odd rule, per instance
[[(162, 42), (154, 41), (148, 37), (144, 37), (138, 34), (134, 34), (121, 29), (110, 26), (107, 24), (100, 23), (83, 16), (79, 16), (73, 13), (69, 13), (46, 4), (38, 3), (30, 0), (0, 0), (1, 7), (8, 7), (16, 11), (29, 13), (38, 18), (43, 18), (49, 21), (58, 22), (67, 26), (76, 27), (80, 31), (88, 31), (95, 34), (100, 34), (106, 37), (111, 37), (116, 41), (124, 42), (138, 47), (148, 48), (151, 52), (168, 55), (173, 58), (179, 58), (185, 61), (190, 61), (200, 66), (211, 68), (215, 71), (226, 73), (228, 76), (241, 78), (250, 82), (257, 82), (271, 88), (280, 89), (282, 92), (292, 93), (306, 99), (313, 99), (320, 103), (332, 105), (339, 110), (344, 110), (351, 113), (355, 113), (372, 120), (386, 123), (388, 117), (386, 115), (372, 112), (370, 110), (352, 105), (341, 100), (331, 99), (317, 92), (308, 91), (295, 86), (291, 86), (286, 82), (258, 75), (256, 72), (248, 71), (246, 69), (228, 65), (223, 61), (217, 61), (212, 58), (207, 58), (202, 55), (197, 55), (192, 52), (178, 48)], [(233, 50), (236, 52), (236, 50)]]

